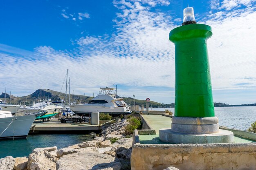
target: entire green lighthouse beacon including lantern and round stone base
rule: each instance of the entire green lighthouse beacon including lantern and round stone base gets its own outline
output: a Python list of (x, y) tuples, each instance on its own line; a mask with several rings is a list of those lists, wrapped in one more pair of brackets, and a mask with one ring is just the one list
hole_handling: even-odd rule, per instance
[(182, 26), (171, 30), (175, 44), (175, 116), (172, 128), (159, 130), (169, 143), (229, 143), (233, 132), (220, 130), (214, 114), (207, 40), (211, 26), (195, 22), (192, 7), (184, 9)]

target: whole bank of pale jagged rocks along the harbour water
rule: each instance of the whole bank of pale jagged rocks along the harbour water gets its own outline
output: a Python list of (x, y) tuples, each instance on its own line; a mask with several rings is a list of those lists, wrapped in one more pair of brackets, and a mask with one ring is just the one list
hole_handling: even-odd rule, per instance
[[(129, 170), (132, 137), (127, 138), (126, 119), (102, 127), (100, 137), (66, 148), (35, 148), (28, 157), (0, 159), (0, 170)], [(111, 139), (117, 140), (111, 144)]]

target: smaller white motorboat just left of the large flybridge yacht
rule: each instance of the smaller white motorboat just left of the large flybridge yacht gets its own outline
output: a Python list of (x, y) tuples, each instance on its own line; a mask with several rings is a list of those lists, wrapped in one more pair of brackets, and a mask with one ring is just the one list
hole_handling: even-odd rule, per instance
[(24, 112), (24, 113), (34, 113), (34, 112), (40, 112), (40, 111), (47, 111), (47, 114), (55, 114), (55, 113), (60, 113), (61, 109), (63, 109), (62, 106), (56, 106), (54, 104), (52, 104), (51, 100), (48, 99), (47, 101), (41, 101), (38, 103), (35, 103), (35, 101), (33, 102), (33, 106), (31, 107), (24, 107), (24, 108), (20, 108), (20, 110), (18, 110), (18, 113), (20, 112)]

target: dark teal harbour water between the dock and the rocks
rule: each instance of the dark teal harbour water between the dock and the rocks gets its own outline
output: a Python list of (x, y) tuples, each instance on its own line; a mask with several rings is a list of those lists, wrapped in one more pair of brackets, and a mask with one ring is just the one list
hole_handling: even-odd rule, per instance
[(1, 140), (0, 158), (28, 157), (35, 148), (57, 146), (60, 149), (88, 140), (92, 140), (92, 136), (81, 134), (37, 134), (28, 135), (27, 139)]

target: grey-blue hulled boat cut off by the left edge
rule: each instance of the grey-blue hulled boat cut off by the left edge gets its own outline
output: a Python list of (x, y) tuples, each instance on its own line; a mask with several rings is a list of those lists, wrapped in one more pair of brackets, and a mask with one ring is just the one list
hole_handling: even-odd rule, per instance
[(0, 139), (26, 138), (35, 115), (13, 116), (0, 107)]

